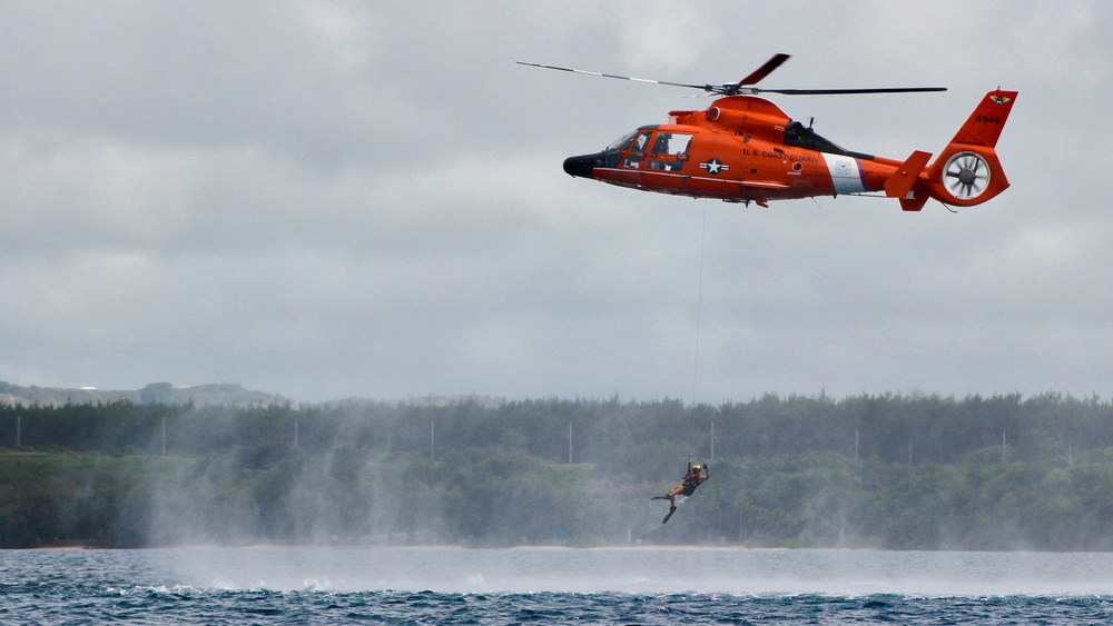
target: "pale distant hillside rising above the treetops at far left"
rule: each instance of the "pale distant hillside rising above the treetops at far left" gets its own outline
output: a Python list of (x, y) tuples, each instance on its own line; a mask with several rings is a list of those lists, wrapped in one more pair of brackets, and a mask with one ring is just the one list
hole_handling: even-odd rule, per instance
[(250, 391), (239, 385), (209, 384), (191, 387), (176, 387), (169, 382), (151, 382), (135, 391), (112, 391), (93, 388), (60, 389), (52, 387), (21, 387), (0, 380), (0, 404), (65, 406), (127, 400), (137, 404), (164, 403), (184, 405), (194, 403), (203, 406), (247, 407), (256, 405), (280, 405), (287, 398), (263, 391)]

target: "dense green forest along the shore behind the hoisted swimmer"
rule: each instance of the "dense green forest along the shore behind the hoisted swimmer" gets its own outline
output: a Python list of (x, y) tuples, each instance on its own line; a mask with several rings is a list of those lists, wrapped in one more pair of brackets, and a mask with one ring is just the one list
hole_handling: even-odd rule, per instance
[[(712, 478), (662, 526), (689, 455)], [(1111, 523), (1096, 397), (0, 406), (0, 547), (1110, 550)]]

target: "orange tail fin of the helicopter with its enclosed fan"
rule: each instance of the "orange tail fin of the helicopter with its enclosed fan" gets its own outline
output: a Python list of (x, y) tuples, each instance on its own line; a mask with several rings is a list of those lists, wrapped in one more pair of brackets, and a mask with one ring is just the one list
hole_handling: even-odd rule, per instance
[[(1016, 91), (1001, 89), (986, 93), (955, 138), (943, 149), (939, 158), (927, 169), (926, 180), (920, 178), (924, 185), (916, 185), (916, 189), (923, 189), (928, 197), (944, 205), (958, 207), (981, 205), (1004, 191), (1008, 187), (1008, 179), (1005, 178), (994, 147), (1016, 101)], [(920, 195), (913, 191), (913, 196)], [(919, 198), (915, 200), (919, 201)], [(904, 199), (900, 203), (905, 210), (917, 210), (909, 209)], [(924, 205), (923, 201), (918, 203), (919, 207)]]

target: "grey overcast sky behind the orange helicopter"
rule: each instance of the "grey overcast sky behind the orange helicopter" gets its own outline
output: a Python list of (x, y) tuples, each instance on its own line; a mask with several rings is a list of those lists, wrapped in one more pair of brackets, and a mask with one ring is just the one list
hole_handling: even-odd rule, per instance
[[(1113, 396), (1107, 2), (0, 2), (0, 380), (301, 401)], [(939, 152), (1020, 91), (952, 212), (572, 179), (682, 89), (770, 88)], [(702, 261), (701, 261), (702, 259)], [(702, 269), (701, 269), (702, 267)]]

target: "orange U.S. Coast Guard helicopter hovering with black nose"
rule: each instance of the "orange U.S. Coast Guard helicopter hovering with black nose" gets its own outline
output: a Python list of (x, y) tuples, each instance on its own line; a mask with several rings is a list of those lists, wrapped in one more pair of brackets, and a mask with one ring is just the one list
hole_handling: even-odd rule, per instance
[(943, 87), (880, 89), (758, 89), (754, 87), (788, 54), (776, 54), (737, 83), (686, 85), (570, 68), (523, 66), (701, 89), (721, 96), (699, 111), (671, 111), (669, 123), (642, 126), (600, 152), (569, 157), (564, 171), (610, 185), (727, 202), (755, 202), (815, 196), (881, 195), (898, 198), (906, 211), (928, 198), (947, 206), (985, 202), (1008, 187), (994, 147), (1016, 101), (1016, 91), (986, 93), (958, 133), (932, 163), (930, 152), (904, 161), (854, 152), (820, 137), (811, 125), (792, 120), (758, 93), (826, 96), (946, 91)]

